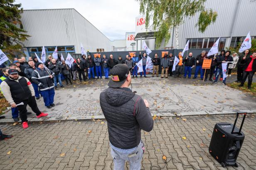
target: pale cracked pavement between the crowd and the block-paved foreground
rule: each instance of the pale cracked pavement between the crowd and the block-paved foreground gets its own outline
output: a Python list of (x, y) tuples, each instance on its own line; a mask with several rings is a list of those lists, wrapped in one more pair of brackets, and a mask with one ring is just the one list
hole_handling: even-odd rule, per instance
[[(234, 82), (236, 75), (228, 77), (227, 82)], [(93, 79), (58, 89), (55, 94), (55, 107), (47, 109), (42, 98), (38, 100), (39, 109), (49, 113), (46, 118), (37, 119), (30, 115), (29, 121), (42, 120), (83, 120), (104, 118), (99, 105), (99, 95), (106, 89), (108, 80)], [(256, 98), (241, 91), (222, 85), (212, 85), (211, 81), (200, 79), (160, 77), (132, 79), (133, 91), (146, 98), (150, 111), (154, 115), (212, 115), (236, 113), (243, 110), (256, 113)], [(27, 107), (29, 108), (29, 107)], [(30, 110), (30, 109), (28, 109)], [(30, 110), (31, 111), (31, 110)], [(0, 122), (13, 122), (10, 111), (7, 118)]]

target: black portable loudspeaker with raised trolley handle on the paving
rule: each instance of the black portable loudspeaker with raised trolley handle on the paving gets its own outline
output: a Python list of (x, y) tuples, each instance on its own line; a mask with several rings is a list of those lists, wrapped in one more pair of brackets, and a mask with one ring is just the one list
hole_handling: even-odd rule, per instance
[[(236, 127), (236, 121), (239, 115), (244, 115), (240, 129)], [(217, 123), (212, 133), (211, 143), (209, 145), (209, 153), (222, 165), (236, 166), (236, 158), (239, 154), (244, 141), (244, 133), (241, 129), (244, 125), (246, 113), (237, 112), (234, 125), (231, 123)]]

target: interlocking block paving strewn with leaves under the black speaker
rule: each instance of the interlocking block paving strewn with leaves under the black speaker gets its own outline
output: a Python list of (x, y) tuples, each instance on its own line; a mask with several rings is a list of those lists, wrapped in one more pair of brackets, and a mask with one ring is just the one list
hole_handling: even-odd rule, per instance
[[(225, 170), (210, 156), (208, 146), (214, 125), (234, 122), (234, 119), (233, 114), (156, 119), (153, 131), (142, 132), (146, 148), (142, 169)], [(256, 114), (246, 117), (237, 170), (256, 170), (255, 122)], [(241, 117), (238, 125), (240, 123)], [(0, 141), (0, 169), (113, 168), (105, 120), (30, 122), (29, 125), (28, 129), (11, 123), (0, 125), (3, 132), (14, 135), (12, 139)], [(163, 155), (167, 157), (167, 164), (162, 160)]]

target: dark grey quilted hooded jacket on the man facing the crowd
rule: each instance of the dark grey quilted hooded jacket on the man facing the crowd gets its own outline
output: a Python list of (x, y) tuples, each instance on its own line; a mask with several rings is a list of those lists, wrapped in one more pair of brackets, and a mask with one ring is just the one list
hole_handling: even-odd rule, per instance
[(153, 129), (149, 108), (140, 96), (128, 88), (109, 87), (100, 95), (100, 105), (108, 122), (109, 141), (113, 146), (130, 149), (141, 141), (141, 129)]

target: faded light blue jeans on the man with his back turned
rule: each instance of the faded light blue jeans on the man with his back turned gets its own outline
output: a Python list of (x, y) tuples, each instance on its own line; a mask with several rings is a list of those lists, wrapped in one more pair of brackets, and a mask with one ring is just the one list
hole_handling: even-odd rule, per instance
[(126, 161), (130, 163), (130, 170), (140, 170), (140, 163), (143, 158), (143, 143), (138, 144), (135, 151), (131, 153), (121, 153), (111, 148), (111, 156), (114, 162), (114, 170), (124, 170)]

